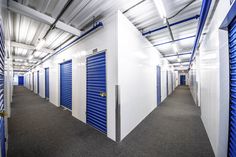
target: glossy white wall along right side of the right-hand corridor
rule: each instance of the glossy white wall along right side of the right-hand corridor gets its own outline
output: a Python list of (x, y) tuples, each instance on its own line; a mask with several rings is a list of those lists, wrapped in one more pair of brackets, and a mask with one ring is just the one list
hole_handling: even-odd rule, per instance
[[(228, 35), (220, 30), (230, 8), (230, 1), (222, 0), (199, 48), (198, 102), (201, 118), (216, 157), (227, 157), (229, 76)], [(192, 85), (191, 85), (192, 86)], [(194, 87), (191, 87), (194, 88)]]

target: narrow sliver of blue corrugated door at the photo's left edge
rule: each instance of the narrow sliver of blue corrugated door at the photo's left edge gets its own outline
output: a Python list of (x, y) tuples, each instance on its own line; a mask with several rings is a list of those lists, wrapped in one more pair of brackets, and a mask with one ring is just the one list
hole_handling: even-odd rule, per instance
[[(4, 113), (4, 36), (2, 25), (0, 24), (0, 112)], [(1, 156), (6, 156), (5, 148), (5, 125), (4, 125), (4, 116), (0, 116), (0, 143), (1, 143)]]

